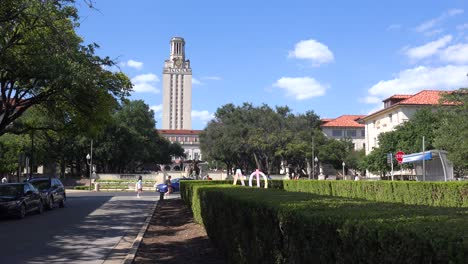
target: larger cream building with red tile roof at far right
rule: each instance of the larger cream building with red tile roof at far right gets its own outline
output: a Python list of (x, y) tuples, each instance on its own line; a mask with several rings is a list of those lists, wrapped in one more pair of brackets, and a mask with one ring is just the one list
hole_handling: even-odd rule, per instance
[(411, 119), (424, 106), (439, 104), (439, 98), (446, 91), (423, 90), (414, 95), (393, 95), (383, 100), (384, 108), (363, 118), (366, 129), (366, 155), (378, 147), (380, 133), (389, 132), (396, 126)]

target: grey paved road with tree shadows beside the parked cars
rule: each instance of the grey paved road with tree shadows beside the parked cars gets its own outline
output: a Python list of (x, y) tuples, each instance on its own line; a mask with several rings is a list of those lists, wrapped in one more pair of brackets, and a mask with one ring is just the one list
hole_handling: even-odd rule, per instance
[(0, 219), (0, 263), (117, 263), (159, 199), (154, 192), (67, 196), (65, 208)]

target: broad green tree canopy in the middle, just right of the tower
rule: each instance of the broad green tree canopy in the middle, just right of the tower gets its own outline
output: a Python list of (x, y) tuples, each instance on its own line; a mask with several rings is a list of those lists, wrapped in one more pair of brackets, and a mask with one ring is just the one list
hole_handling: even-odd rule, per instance
[(223, 162), (228, 169), (236, 166), (278, 173), (280, 167), (289, 167), (310, 175), (313, 151), (335, 167), (352, 151), (346, 141), (327, 139), (320, 124), (313, 111), (293, 114), (289, 107), (226, 104), (200, 134), (200, 144), (205, 159)]

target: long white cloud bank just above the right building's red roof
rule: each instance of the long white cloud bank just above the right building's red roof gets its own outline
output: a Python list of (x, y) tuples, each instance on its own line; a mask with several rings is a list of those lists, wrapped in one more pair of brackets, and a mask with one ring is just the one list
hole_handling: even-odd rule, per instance
[(382, 80), (369, 89), (369, 97), (385, 99), (394, 94), (414, 94), (421, 90), (455, 90), (468, 86), (468, 65), (407, 69), (395, 79)]

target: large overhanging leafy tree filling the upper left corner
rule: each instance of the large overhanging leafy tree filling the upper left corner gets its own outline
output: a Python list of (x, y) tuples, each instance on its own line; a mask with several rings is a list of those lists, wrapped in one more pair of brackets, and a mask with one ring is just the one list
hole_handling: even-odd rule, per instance
[[(132, 85), (111, 72), (109, 58), (94, 54), (75, 33), (71, 0), (0, 2), (0, 135), (34, 105), (68, 108), (76, 121), (99, 124), (101, 103), (123, 98)], [(90, 126), (92, 128), (92, 126)]]

